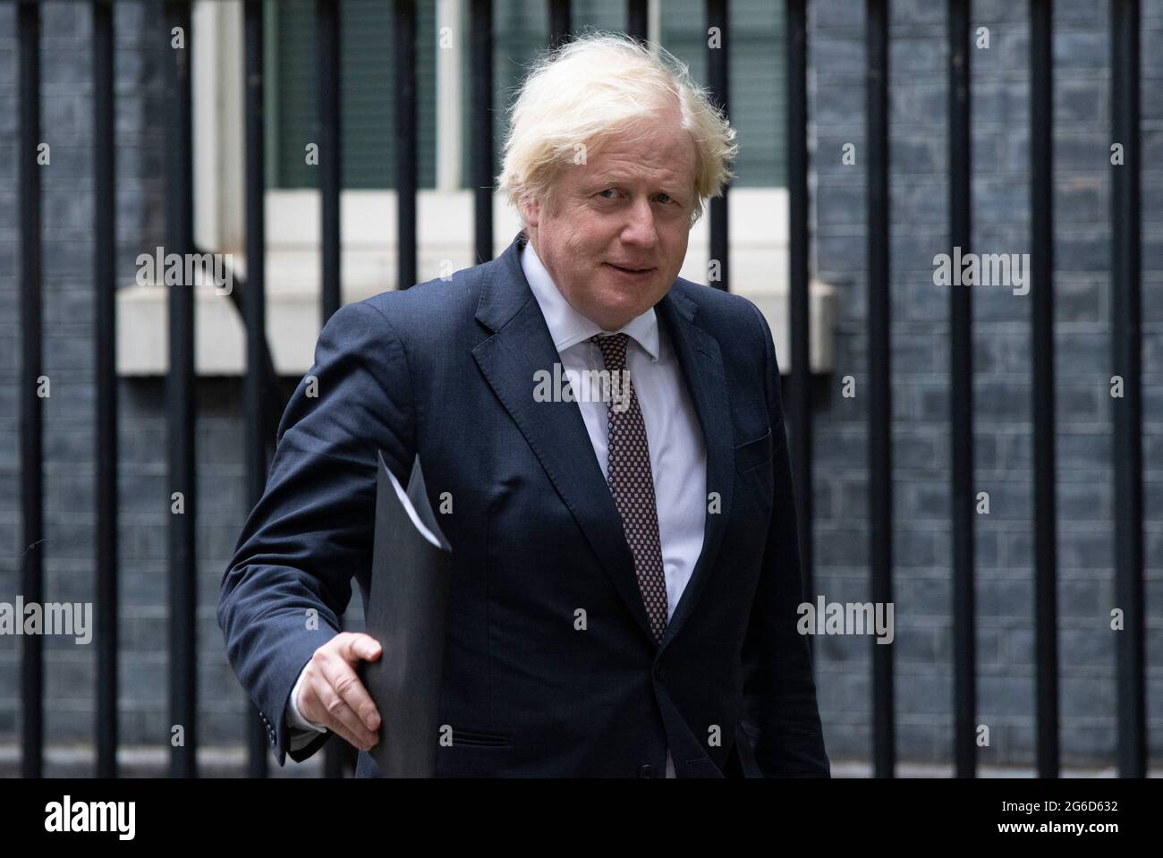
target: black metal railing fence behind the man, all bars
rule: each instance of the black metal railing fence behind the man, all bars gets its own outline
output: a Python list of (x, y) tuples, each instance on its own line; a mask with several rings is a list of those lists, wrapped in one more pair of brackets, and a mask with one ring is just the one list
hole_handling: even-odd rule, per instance
[[(19, 203), (20, 203), (20, 322), (22, 371), (20, 377), (21, 509), (23, 542), (21, 587), (26, 600), (43, 593), (43, 436), (42, 400), (36, 385), (42, 367), (41, 293), (41, 184), (36, 165), (41, 140), (41, 10), (36, 2), (16, 3), (19, 41)], [(244, 0), (244, 109), (245, 109), (245, 242), (248, 283), (235, 278), (233, 300), (248, 334), (248, 370), (243, 385), (247, 424), (247, 486), (257, 501), (265, 484), (274, 438), (273, 422), (283, 402), (264, 330), (265, 244), (264, 127), (263, 116), (263, 14), (261, 0)], [(1054, 278), (1053, 229), (1053, 52), (1051, 1), (1029, 0), (1030, 13), (1030, 200), (1033, 242), (1033, 414), (1035, 485), (1035, 642), (1037, 770), (1042, 777), (1058, 773), (1058, 657), (1056, 645), (1056, 509), (1055, 509), (1055, 402), (1054, 402)], [(116, 774), (117, 749), (117, 445), (115, 372), (114, 271), (114, 92), (113, 14), (110, 0), (95, 0), (93, 21), (93, 157), (95, 176), (94, 281), (97, 302), (97, 639), (98, 672), (97, 773)], [(570, 34), (569, 0), (548, 0), (556, 44)], [(808, 593), (812, 587), (812, 412), (809, 407), (808, 326), (808, 149), (807, 149), (807, 42), (806, 0), (787, 0), (787, 186), (790, 199), (790, 298), (792, 369), (786, 400), (791, 422), (791, 457), (800, 508), (800, 544)], [(628, 0), (627, 33), (644, 37), (645, 0)], [(411, 0), (393, 0), (395, 67), (385, 79), (395, 88), (395, 144), (399, 279), (402, 286), (416, 279), (416, 15)], [(320, 128), (320, 190), (322, 193), (322, 312), (330, 316), (340, 306), (340, 27), (337, 0), (317, 0), (317, 60)], [(972, 177), (970, 128), (969, 0), (948, 0), (949, 47), (949, 217), (950, 245), (968, 245), (971, 229)], [(492, 199), (494, 141), (491, 112), (493, 77), (492, 2), (471, 0), (471, 183), (475, 188), (476, 258), (492, 258)], [(871, 589), (877, 602), (892, 601), (892, 478), (890, 385), (889, 253), (889, 2), (866, 0), (866, 122), (868, 122), (868, 344), (869, 344), (869, 515), (871, 536)], [(706, 24), (718, 27), (720, 49), (708, 49), (708, 84), (714, 99), (729, 106), (727, 45), (730, 33), (728, 0), (706, 1)], [(188, 0), (165, 6), (165, 27), (180, 27), (190, 40)], [(1111, 226), (1113, 252), (1111, 374), (1123, 380), (1123, 396), (1113, 409), (1116, 595), (1125, 612), (1125, 630), (1118, 637), (1118, 766), (1123, 777), (1143, 777), (1147, 760), (1144, 707), (1143, 610), (1143, 486), (1142, 486), (1142, 379), (1141, 379), (1141, 206), (1140, 206), (1140, 8), (1136, 0), (1111, 0), (1112, 140), (1123, 146), (1123, 163), (1112, 167)], [(169, 36), (159, 34), (158, 44)], [(192, 122), (190, 50), (164, 50), (166, 71), (166, 242), (174, 252), (194, 251)], [(392, 77), (387, 77), (392, 76)], [(722, 264), (728, 288), (727, 248), (729, 227), (726, 194), (711, 205), (711, 258)], [(950, 292), (951, 323), (949, 415), (952, 437), (952, 578), (955, 731), (954, 759), (958, 777), (976, 772), (975, 744), (975, 612), (973, 612), (973, 408), (971, 305), (969, 289)], [(170, 603), (170, 708), (173, 723), (185, 727), (185, 743), (171, 751), (171, 774), (197, 773), (197, 693), (194, 612), (194, 488), (198, 451), (194, 445), (194, 303), (193, 288), (169, 289), (170, 369), (166, 379), (169, 415), (170, 485), (183, 493), (185, 514), (171, 516), (169, 542)], [(43, 652), (38, 636), (22, 637), (22, 772), (42, 774), (44, 751)], [(891, 777), (894, 768), (892, 648), (873, 646), (873, 770)], [(250, 774), (266, 773), (267, 744), (257, 715), (248, 718)], [(329, 766), (334, 773), (335, 764)]]

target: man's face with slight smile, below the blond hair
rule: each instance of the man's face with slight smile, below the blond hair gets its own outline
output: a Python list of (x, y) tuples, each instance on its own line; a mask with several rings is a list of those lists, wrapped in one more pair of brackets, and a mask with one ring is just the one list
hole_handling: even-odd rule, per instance
[(551, 201), (528, 203), (527, 233), (566, 301), (616, 330), (656, 305), (686, 256), (694, 141), (677, 108), (561, 167)]

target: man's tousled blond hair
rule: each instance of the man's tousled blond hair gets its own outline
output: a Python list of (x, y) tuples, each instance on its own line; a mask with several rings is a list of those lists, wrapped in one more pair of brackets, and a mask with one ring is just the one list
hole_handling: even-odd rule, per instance
[(735, 129), (686, 64), (657, 44), (612, 33), (586, 33), (534, 62), (509, 109), (498, 187), (523, 222), (523, 205), (551, 199), (558, 170), (579, 145), (594, 148), (675, 106), (694, 141), (693, 226), (704, 200), (734, 176)]

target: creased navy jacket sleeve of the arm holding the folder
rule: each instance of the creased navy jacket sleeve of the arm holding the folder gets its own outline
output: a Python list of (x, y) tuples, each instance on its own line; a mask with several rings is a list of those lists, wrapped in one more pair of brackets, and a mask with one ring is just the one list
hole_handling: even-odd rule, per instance
[(330, 736), (292, 750), (287, 700), (314, 651), (338, 634), (352, 575), (370, 569), (377, 453), (407, 478), (411, 385), (404, 345), (383, 313), (359, 302), (331, 316), (279, 422), (266, 488), (222, 579), (227, 657), (279, 765), (288, 753), (306, 759)]

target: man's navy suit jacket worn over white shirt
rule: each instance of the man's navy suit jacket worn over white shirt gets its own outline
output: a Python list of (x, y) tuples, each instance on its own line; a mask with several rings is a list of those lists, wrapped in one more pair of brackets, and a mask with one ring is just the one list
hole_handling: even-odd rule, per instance
[[(454, 550), (437, 775), (829, 774), (812, 658), (779, 369), (754, 303), (679, 278), (655, 306), (707, 449), (706, 535), (661, 644), (576, 402), (538, 402), (559, 360), (520, 264), (499, 258), (343, 307), (278, 429), (265, 493), (222, 581), (227, 653), (277, 759), (284, 709), (366, 603), (377, 452), (423, 464)], [(712, 494), (713, 493), (713, 494)], [(718, 512), (715, 512), (718, 510)], [(308, 612), (317, 628), (308, 628)], [(586, 628), (575, 628), (578, 609)], [(433, 741), (437, 742), (434, 732)], [(376, 774), (361, 752), (358, 775)]]

